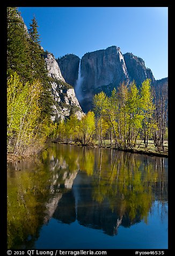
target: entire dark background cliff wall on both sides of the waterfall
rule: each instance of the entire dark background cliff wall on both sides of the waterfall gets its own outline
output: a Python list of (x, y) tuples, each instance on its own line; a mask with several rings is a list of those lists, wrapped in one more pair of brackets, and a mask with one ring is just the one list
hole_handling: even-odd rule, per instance
[[(65, 81), (69, 81), (75, 87), (78, 77), (78, 56), (65, 55), (59, 63)], [(77, 90), (76, 93), (77, 96), (81, 95), (79, 102), (84, 112), (93, 108), (94, 94), (103, 90), (107, 95), (111, 95), (113, 88), (117, 88), (122, 82), (129, 84), (134, 80), (139, 87), (145, 79), (151, 79), (152, 85), (158, 84), (151, 69), (145, 67), (141, 58), (132, 53), (122, 54), (116, 46), (84, 54), (81, 60), (81, 76), (79, 93)]]

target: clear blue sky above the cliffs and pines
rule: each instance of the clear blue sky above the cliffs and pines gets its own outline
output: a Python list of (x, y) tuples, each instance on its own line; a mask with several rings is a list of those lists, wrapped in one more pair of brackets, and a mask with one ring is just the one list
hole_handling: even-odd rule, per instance
[(155, 79), (167, 77), (167, 7), (22, 7), (26, 26), (38, 20), (41, 46), (55, 58), (116, 45), (145, 61)]

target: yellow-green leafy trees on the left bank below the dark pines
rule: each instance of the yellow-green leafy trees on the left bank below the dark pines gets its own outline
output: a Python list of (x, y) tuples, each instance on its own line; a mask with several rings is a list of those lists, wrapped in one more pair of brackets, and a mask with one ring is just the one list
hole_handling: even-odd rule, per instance
[(14, 154), (36, 153), (54, 126), (41, 118), (41, 83), (22, 83), (17, 73), (7, 82), (8, 151)]

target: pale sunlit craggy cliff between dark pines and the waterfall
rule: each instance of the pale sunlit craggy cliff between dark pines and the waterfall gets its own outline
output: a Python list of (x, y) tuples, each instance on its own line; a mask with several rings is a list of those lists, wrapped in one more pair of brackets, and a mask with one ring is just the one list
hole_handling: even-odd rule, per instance
[(81, 106), (76, 98), (74, 88), (66, 83), (60, 67), (53, 54), (48, 53), (45, 56), (48, 76), (52, 83), (52, 95), (54, 100), (52, 120), (57, 121), (75, 113), (79, 119), (84, 115)]

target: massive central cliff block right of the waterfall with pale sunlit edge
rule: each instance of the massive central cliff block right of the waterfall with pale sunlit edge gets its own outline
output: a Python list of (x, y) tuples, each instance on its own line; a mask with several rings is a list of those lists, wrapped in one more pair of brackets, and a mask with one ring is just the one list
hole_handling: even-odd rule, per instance
[(81, 74), (84, 111), (92, 109), (94, 94), (101, 90), (110, 94), (121, 81), (129, 83), (125, 60), (120, 48), (116, 46), (84, 54), (81, 61)]

